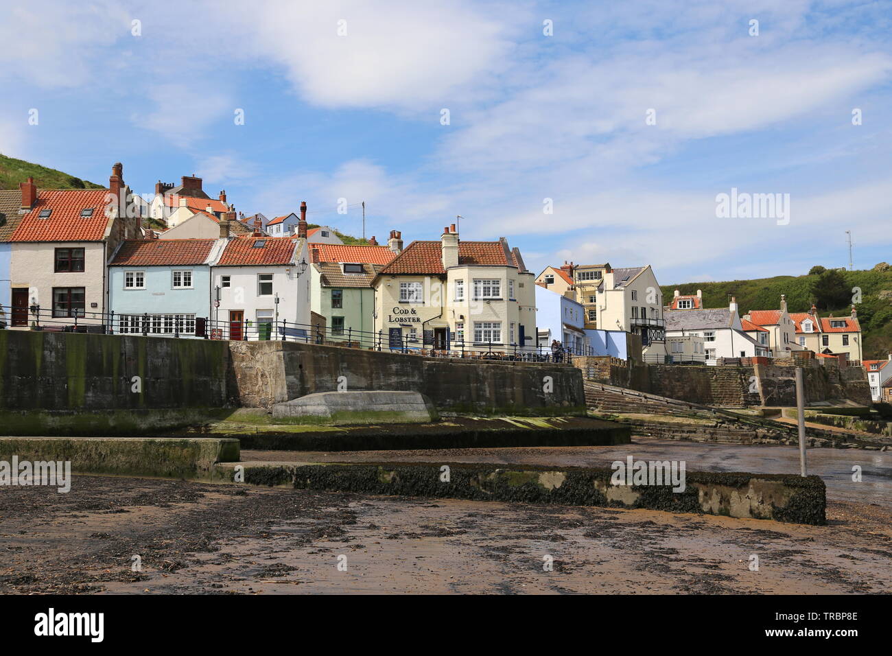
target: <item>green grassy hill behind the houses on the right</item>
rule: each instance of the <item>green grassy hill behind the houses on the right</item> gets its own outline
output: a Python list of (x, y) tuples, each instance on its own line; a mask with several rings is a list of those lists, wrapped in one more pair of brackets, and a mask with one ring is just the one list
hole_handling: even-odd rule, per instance
[[(862, 302), (856, 303), (858, 320), (861, 323), (864, 339), (864, 359), (885, 358), (892, 351), (892, 269), (842, 271), (850, 287), (860, 287)], [(780, 305), (780, 295), (787, 295), (787, 306), (791, 312), (805, 312), (812, 307), (811, 292), (817, 275), (776, 276), (754, 280), (731, 280), (728, 282), (696, 282), (683, 285), (662, 286), (663, 297), (668, 303), (674, 290), (681, 294), (697, 294), (703, 291), (703, 306), (706, 308), (727, 307), (731, 296), (737, 296), (740, 315), (750, 310), (776, 310)], [(887, 294), (882, 294), (887, 292)], [(851, 305), (841, 305), (821, 310), (821, 316), (832, 313), (836, 316), (848, 314)]]

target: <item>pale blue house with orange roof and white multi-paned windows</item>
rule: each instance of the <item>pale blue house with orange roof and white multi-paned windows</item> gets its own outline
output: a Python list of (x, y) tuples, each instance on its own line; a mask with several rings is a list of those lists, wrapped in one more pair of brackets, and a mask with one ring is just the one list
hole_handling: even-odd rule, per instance
[[(109, 262), (117, 333), (196, 334), (211, 316), (211, 265), (226, 240), (122, 242)], [(198, 333), (203, 335), (199, 329)]]

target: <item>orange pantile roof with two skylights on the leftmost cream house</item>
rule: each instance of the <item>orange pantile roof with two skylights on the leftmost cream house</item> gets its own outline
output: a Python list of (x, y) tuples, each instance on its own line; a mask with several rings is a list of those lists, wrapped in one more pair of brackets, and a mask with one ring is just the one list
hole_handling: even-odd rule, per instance
[[(13, 242), (98, 242), (105, 237), (108, 217), (105, 196), (108, 189), (49, 189), (37, 191), (37, 203), (21, 217), (10, 237)], [(81, 210), (93, 215), (82, 217)], [(42, 210), (53, 212), (40, 218)]]

